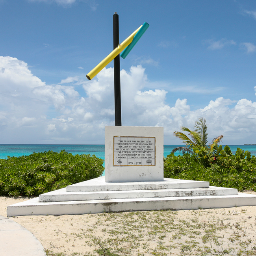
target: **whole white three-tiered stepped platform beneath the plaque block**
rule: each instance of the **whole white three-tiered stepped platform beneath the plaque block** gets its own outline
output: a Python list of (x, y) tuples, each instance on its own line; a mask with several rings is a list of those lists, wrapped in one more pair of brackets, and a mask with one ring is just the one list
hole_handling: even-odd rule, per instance
[(256, 205), (256, 195), (211, 187), (209, 182), (164, 178), (157, 182), (105, 182), (99, 177), (7, 206), (7, 216), (119, 211), (192, 210)]

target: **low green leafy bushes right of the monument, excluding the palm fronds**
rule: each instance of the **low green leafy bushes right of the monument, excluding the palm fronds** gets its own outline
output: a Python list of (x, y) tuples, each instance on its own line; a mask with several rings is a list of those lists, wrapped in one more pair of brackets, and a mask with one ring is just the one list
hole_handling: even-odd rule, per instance
[(209, 181), (210, 186), (256, 191), (256, 157), (237, 148), (232, 154), (228, 146), (213, 147), (212, 152), (194, 148), (195, 154), (164, 158), (164, 177)]

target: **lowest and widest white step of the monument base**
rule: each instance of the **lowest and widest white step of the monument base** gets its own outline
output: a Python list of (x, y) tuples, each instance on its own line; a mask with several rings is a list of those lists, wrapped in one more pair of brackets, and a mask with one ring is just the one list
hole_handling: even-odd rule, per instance
[(39, 202), (38, 197), (7, 206), (7, 217), (20, 215), (63, 215), (119, 211), (192, 210), (256, 205), (256, 195), (128, 198), (68, 202)]

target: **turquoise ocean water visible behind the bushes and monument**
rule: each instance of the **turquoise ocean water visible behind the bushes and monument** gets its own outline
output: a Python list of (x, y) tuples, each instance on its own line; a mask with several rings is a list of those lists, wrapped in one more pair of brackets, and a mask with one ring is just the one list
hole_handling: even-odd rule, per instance
[[(164, 145), (163, 156), (166, 157), (169, 155), (173, 148), (176, 147), (181, 147), (181, 145)], [(233, 153), (236, 152), (237, 148), (241, 148), (242, 150), (250, 151), (252, 155), (256, 155), (256, 145), (229, 145), (229, 147)], [(7, 158), (7, 156), (19, 157), (30, 155), (33, 152), (45, 152), (49, 150), (60, 152), (63, 149), (73, 155), (90, 154), (102, 159), (105, 157), (104, 145), (0, 144), (0, 158)], [(175, 154), (178, 155), (178, 152)]]

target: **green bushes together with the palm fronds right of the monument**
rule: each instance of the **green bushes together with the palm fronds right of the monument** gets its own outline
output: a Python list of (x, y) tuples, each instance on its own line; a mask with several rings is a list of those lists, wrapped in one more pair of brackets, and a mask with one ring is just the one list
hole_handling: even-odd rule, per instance
[[(182, 131), (189, 132), (192, 139), (182, 132), (174, 132), (174, 136), (180, 138), (188, 150), (186, 147), (175, 148), (164, 158), (164, 177), (209, 181), (210, 186), (256, 191), (256, 157), (240, 148), (232, 154), (230, 147), (218, 146), (223, 135), (206, 145), (206, 119), (198, 119), (194, 127), (193, 131), (181, 127)], [(185, 154), (174, 156), (177, 150)]]

